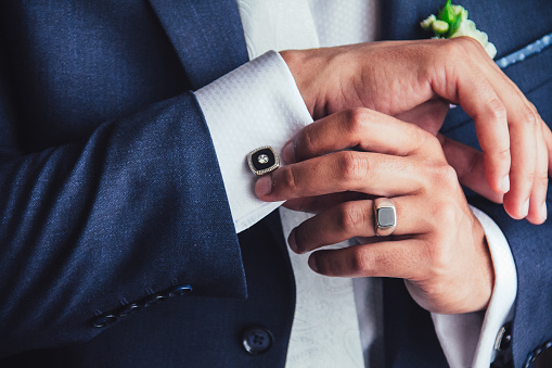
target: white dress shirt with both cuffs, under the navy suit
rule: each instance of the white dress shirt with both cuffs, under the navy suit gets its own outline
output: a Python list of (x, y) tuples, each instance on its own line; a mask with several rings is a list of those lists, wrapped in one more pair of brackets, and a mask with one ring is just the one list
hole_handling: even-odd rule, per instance
[[(283, 144), (301, 127), (312, 122), (285, 62), (275, 52), (269, 52), (260, 58), (259, 55), (268, 50), (372, 41), (377, 38), (378, 4), (376, 1), (363, 0), (349, 0), (346, 7), (344, 2), (337, 4), (335, 1), (324, 0), (239, 0), (238, 3), (252, 61), (204, 87), (196, 92), (196, 97), (211, 134), (234, 225), (236, 232), (240, 232), (281, 204), (266, 203), (256, 198), (253, 192), (256, 178), (245, 163), (246, 154), (261, 145), (271, 145), (281, 153)], [(475, 313), (454, 316), (432, 314), (437, 335), (451, 367), (490, 365), (495, 338), (511, 314), (516, 293), (515, 266), (505, 238), (488, 216), (475, 208), (474, 213), (486, 231), (495, 265), (496, 284), (483, 320), (482, 314)], [(281, 217), (284, 232), (286, 229), (291, 231), (305, 219), (304, 214), (294, 214), (290, 211), (281, 211)], [(382, 300), (378, 280), (369, 278), (355, 280), (352, 289), (357, 303), (354, 314), (360, 327), (361, 345), (356, 347), (358, 337), (354, 337), (356, 340), (352, 339), (351, 343), (347, 338), (342, 350), (344, 353), (339, 353), (342, 356), (335, 356), (328, 354), (323, 348), (316, 348), (316, 346), (331, 348), (337, 343), (332, 342), (332, 338), (335, 337), (323, 332), (317, 333), (316, 328), (320, 325), (316, 322), (310, 323), (314, 325), (310, 326), (311, 329), (305, 329), (309, 323), (298, 319), (298, 313), (300, 316), (303, 309), (301, 303), (311, 300), (301, 296), (300, 283), (303, 279), (309, 279), (311, 276), (303, 270), (300, 271), (303, 277), (297, 277), (297, 259), (301, 258), (293, 257), (292, 254), (298, 305), (286, 365), (305, 367), (305, 363), (309, 361), (317, 366), (314, 361), (318, 356), (320, 361), (330, 361), (328, 366), (332, 366), (332, 361), (337, 361), (339, 367), (346, 365), (368, 367), (371, 361), (362, 359), (362, 355), (377, 357), (383, 354), (382, 351), (374, 352), (382, 347), (374, 343), (381, 337), (383, 328), (380, 318)], [(306, 263), (304, 258), (303, 262)], [(316, 277), (324, 280), (322, 276)], [(333, 279), (337, 280), (335, 284), (343, 283), (341, 289), (351, 289), (349, 279)], [(316, 279), (314, 282), (322, 289), (324, 281)], [(305, 290), (313, 292), (308, 288)], [(330, 291), (332, 290), (330, 288)], [(326, 296), (322, 300), (329, 303), (341, 300), (337, 314), (342, 314), (344, 302), (350, 308), (355, 308), (355, 300), (350, 300), (350, 295), (326, 293)], [(306, 315), (310, 317), (311, 314)], [(335, 323), (343, 327), (356, 325), (356, 321)], [(358, 331), (358, 327), (356, 328)], [(348, 327), (345, 330), (345, 335), (350, 335)], [(322, 337), (325, 341), (312, 341), (309, 335)], [(343, 342), (343, 339), (338, 338), (337, 341)], [(331, 355), (334, 360), (328, 360), (326, 355)], [(377, 361), (372, 364), (377, 366)]]

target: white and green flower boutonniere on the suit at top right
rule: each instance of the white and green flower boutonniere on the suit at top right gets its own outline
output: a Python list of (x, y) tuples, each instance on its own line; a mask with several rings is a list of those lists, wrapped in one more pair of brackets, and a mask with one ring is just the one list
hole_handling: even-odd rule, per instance
[(489, 42), (487, 34), (477, 29), (475, 23), (467, 18), (467, 10), (461, 5), (452, 5), (450, 0), (447, 0), (447, 3), (439, 10), (437, 16), (432, 14), (420, 25), (425, 30), (433, 30), (436, 38), (454, 38), (460, 36), (475, 38), (482, 43), (491, 59), (497, 54), (497, 48)]

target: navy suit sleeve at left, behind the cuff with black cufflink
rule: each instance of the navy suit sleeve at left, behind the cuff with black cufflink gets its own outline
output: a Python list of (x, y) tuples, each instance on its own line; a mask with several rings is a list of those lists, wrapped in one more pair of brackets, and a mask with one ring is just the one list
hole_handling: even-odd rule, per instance
[(86, 141), (23, 153), (4, 81), (0, 357), (89, 340), (102, 331), (91, 326), (95, 317), (179, 285), (193, 291), (176, 297), (245, 296), (222, 178), (193, 93), (105, 122)]

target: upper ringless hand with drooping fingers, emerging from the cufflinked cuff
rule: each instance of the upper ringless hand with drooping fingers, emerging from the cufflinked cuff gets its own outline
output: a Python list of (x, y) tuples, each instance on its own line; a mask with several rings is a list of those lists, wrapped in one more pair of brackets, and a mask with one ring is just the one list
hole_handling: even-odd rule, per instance
[[(281, 54), (314, 119), (358, 106), (400, 117), (427, 105), (442, 107), (442, 100), (460, 104), (475, 122), (484, 165), (459, 160), (462, 152), (478, 157), (468, 148), (441, 140), (444, 150), (457, 156), (447, 156), (457, 170), (485, 169), (473, 177), (482, 174), (488, 182), (465, 185), (484, 195), (490, 186), (499, 195), (486, 196), (495, 201), (504, 194), (504, 208), (514, 218), (545, 220), (552, 134), (477, 41), (388, 41)], [(423, 118), (418, 123), (424, 127)]]

